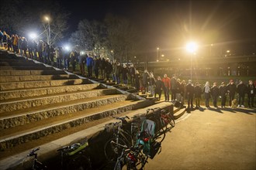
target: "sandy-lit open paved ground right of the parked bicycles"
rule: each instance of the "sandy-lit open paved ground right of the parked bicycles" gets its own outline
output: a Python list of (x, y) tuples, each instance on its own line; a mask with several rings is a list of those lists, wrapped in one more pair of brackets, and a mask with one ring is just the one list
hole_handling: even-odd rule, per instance
[(150, 169), (256, 169), (256, 110), (193, 110), (162, 143)]

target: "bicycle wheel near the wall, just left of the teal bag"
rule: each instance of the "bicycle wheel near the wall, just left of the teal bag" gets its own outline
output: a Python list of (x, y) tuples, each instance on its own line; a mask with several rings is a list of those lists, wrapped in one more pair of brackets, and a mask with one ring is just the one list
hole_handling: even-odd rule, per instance
[(111, 141), (116, 142), (116, 138), (111, 138), (109, 141), (106, 142), (104, 146), (104, 153), (106, 156), (106, 159), (108, 161), (116, 161), (119, 155), (121, 155), (123, 148), (121, 148), (119, 145), (127, 145), (126, 142), (119, 138), (119, 145), (116, 145), (114, 143), (111, 143)]

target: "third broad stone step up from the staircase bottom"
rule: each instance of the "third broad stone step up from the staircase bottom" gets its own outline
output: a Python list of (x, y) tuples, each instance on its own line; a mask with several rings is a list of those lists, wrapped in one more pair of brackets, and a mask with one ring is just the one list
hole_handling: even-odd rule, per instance
[(89, 97), (115, 94), (116, 89), (96, 89), (67, 93), (46, 94), (39, 97), (26, 97), (20, 99), (3, 100), (0, 103), (0, 114), (15, 110), (39, 107), (47, 104), (63, 103), (71, 100), (81, 100)]

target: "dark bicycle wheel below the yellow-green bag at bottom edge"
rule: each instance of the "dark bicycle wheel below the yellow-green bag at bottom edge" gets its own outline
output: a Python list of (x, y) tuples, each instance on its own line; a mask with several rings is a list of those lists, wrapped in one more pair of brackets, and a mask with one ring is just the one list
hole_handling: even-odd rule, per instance
[(68, 159), (66, 169), (92, 170), (91, 160), (86, 155), (74, 155)]

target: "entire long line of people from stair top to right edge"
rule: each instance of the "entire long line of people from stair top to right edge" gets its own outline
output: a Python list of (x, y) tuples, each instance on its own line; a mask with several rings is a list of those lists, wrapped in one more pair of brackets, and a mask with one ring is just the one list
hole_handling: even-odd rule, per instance
[[(186, 83), (185, 80), (180, 80), (175, 75), (169, 78), (167, 74), (164, 74), (162, 78), (157, 76), (157, 79), (155, 79), (153, 72), (144, 70), (143, 73), (140, 73), (133, 64), (119, 63), (117, 60), (112, 61), (104, 56), (93, 55), (93, 53), (78, 53), (75, 50), (70, 52), (64, 50), (63, 47), (54, 48), (54, 46), (49, 46), (43, 40), (36, 42), (33, 39), (27, 40), (25, 37), (18, 35), (9, 36), (1, 30), (0, 40), (0, 46), (13, 53), (36, 59), (52, 66), (54, 66), (54, 57), (56, 57), (56, 66), (60, 69), (70, 70), (71, 65), (70, 71), (74, 72), (78, 65), (82, 76), (94, 76), (96, 79), (102, 78), (103, 80), (112, 79), (113, 82), (117, 84), (123, 83), (125, 86), (130, 82), (130, 86), (134, 87), (137, 92), (148, 93), (151, 97), (157, 97), (158, 100), (161, 100), (161, 93), (163, 92), (165, 101), (178, 100), (185, 104), (186, 98), (189, 108), (194, 107), (194, 100), (195, 108), (199, 108), (201, 97), (204, 95), (206, 107), (209, 107), (210, 98), (213, 98), (213, 107), (218, 107), (217, 101), (219, 99), (221, 100), (221, 107), (226, 107), (227, 98), (227, 105), (231, 107), (237, 93), (238, 107), (244, 107), (246, 94), (248, 107), (254, 107), (256, 81), (253, 83), (252, 80), (249, 80), (248, 84), (245, 85), (242, 80), (236, 83), (230, 80), (227, 85), (222, 82), (220, 86), (217, 83), (213, 83), (213, 86), (210, 86), (207, 81), (201, 87), (199, 82), (192, 83), (192, 80), (189, 80)], [(86, 71), (85, 66), (87, 67)]]

